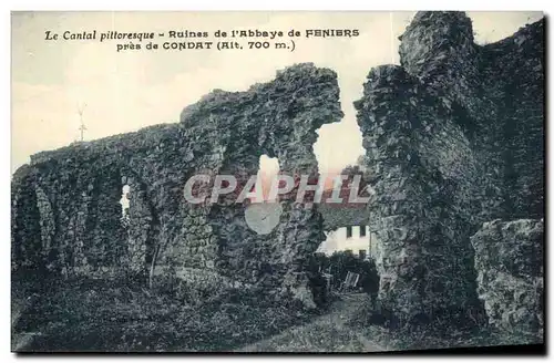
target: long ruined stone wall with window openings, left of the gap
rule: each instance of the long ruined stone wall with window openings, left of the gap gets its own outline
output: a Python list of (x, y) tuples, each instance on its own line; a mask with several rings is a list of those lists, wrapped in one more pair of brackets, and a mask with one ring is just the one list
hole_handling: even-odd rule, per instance
[(179, 123), (33, 155), (13, 178), (14, 268), (50, 256), (49, 269), (62, 276), (204, 270), (286, 295), (286, 277), (301, 272), (325, 238), (317, 209), (284, 200), (280, 225), (258, 236), (245, 224), (245, 206), (228, 200), (236, 195), (191, 205), (183, 188), (195, 174), (256, 175), (263, 154), (278, 157), (283, 173), (317, 175), (316, 131), (341, 117), (337, 75), (308, 63), (247, 92), (214, 91)]

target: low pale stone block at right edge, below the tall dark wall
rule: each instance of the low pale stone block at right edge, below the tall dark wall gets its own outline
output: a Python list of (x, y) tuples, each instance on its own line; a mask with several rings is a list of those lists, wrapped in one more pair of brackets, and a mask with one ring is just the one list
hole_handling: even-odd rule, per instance
[(471, 237), (479, 271), (479, 298), (489, 322), (509, 332), (543, 333), (544, 222), (485, 222)]

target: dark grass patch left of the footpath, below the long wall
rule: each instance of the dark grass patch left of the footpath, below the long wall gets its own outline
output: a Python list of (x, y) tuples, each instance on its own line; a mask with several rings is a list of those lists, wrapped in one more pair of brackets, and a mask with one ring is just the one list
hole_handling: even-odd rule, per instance
[(37, 298), (12, 333), (39, 333), (23, 351), (228, 351), (309, 317), (252, 299), (226, 294), (194, 307), (116, 281), (71, 281)]

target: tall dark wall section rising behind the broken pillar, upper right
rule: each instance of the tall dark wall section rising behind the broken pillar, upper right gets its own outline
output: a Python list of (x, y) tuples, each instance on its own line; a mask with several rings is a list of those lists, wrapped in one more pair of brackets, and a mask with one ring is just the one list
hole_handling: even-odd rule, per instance
[[(449, 98), (481, 167), (482, 220), (543, 214), (544, 20), (486, 45), (463, 12), (418, 12), (401, 65)], [(529, 200), (531, 200), (529, 203)]]

